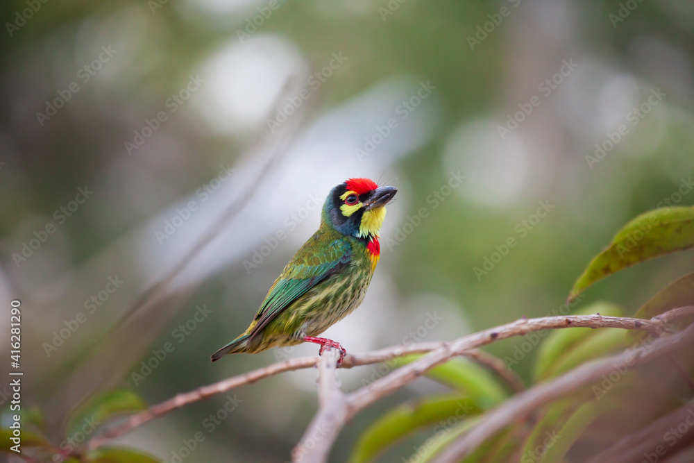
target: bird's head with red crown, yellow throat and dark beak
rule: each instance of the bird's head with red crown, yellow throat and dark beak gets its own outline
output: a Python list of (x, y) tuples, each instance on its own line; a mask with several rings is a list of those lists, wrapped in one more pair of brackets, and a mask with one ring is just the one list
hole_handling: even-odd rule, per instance
[(386, 217), (385, 205), (397, 192), (396, 187), (379, 187), (368, 178), (350, 178), (328, 194), (323, 221), (343, 235), (367, 241), (378, 238)]

